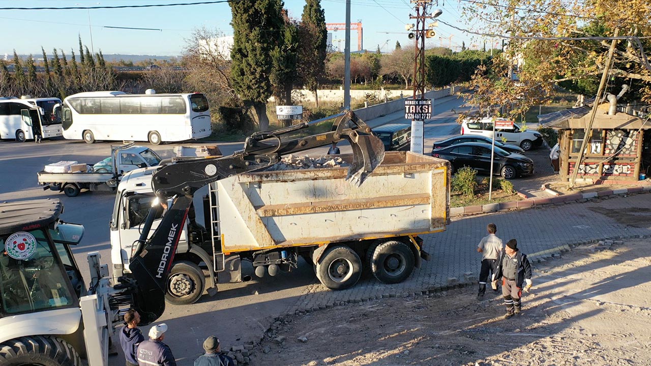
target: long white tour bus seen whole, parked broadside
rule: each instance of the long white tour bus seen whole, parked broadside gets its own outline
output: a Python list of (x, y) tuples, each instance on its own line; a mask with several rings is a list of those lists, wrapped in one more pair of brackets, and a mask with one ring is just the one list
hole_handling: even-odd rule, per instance
[(201, 139), (212, 133), (204, 94), (127, 94), (81, 92), (63, 100), (63, 137), (95, 140), (163, 142)]

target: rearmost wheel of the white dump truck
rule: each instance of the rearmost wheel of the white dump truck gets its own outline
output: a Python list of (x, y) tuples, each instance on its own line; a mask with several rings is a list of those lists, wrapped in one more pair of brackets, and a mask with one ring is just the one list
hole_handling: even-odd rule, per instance
[(399, 283), (413, 271), (413, 252), (403, 242), (389, 240), (377, 246), (370, 260), (371, 272), (382, 283)]

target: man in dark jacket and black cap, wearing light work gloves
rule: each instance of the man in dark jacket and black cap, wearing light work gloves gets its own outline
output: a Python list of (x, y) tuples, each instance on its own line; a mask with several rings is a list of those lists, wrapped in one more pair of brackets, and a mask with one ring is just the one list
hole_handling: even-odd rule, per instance
[(527, 255), (518, 250), (518, 241), (511, 239), (506, 242), (505, 250), (497, 261), (495, 280), (502, 279), (502, 296), (506, 305), (505, 319), (522, 311), (521, 298), (523, 284), (531, 288), (531, 264)]

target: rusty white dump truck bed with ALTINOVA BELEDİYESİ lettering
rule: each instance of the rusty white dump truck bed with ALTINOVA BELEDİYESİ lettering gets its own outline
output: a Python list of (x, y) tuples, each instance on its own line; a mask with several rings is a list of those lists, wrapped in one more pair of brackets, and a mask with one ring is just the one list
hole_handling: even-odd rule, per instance
[[(351, 162), (352, 155), (339, 155)], [(215, 182), (225, 253), (445, 230), (449, 162), (387, 152), (359, 187), (346, 167), (254, 171)]]

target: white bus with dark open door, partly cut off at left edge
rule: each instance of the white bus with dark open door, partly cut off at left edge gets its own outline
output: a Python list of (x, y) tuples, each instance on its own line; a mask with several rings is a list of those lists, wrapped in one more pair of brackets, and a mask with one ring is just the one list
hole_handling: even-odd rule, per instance
[(0, 98), (0, 139), (57, 137), (62, 134), (61, 119), (54, 113), (59, 98)]

